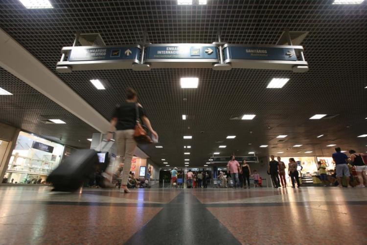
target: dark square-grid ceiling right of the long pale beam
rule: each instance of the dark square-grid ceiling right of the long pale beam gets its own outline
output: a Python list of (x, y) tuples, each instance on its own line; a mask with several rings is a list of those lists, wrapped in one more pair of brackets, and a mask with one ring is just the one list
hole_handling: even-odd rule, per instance
[[(182, 166), (189, 158), (190, 166), (202, 166), (214, 151), (330, 155), (329, 144), (366, 151), (367, 138), (357, 136), (367, 134), (367, 0), (357, 5), (332, 2), (208, 0), (207, 5), (186, 6), (176, 0), (51, 0), (53, 9), (27, 10), (18, 0), (2, 0), (0, 27), (107, 119), (124, 99), (125, 88), (135, 88), (163, 146), (141, 148), (159, 164), (164, 158), (171, 166)], [(218, 27), (226, 42), (259, 45), (274, 45), (285, 28), (308, 31), (302, 45), (310, 71), (55, 72), (61, 48), (71, 46), (77, 31), (100, 33), (106, 45), (138, 43), (145, 28), (151, 43), (211, 43)], [(183, 76), (199, 77), (198, 89), (181, 89)], [(266, 89), (273, 77), (290, 81), (282, 89)], [(100, 79), (107, 90), (96, 90), (90, 79)], [(29, 87), (23, 87), (27, 93)], [(3, 117), (17, 124), (9, 113)], [(186, 121), (182, 114), (188, 115)], [(242, 114), (256, 117), (229, 120)], [(339, 116), (309, 120), (314, 114)], [(39, 127), (34, 125), (42, 131)], [(275, 138), (279, 134), (288, 137), (280, 143)], [(325, 136), (316, 138), (320, 134)], [(184, 140), (184, 135), (193, 139)], [(237, 137), (226, 140), (227, 135)], [(184, 155), (185, 145), (191, 146), (190, 155)]]

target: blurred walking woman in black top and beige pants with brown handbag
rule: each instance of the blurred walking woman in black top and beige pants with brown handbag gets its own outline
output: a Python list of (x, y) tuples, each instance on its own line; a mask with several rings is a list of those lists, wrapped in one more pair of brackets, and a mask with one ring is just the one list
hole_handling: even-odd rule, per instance
[[(117, 160), (119, 161), (120, 167), (123, 164), (120, 193), (130, 193), (126, 185), (129, 180), (131, 160), (133, 159), (133, 154), (137, 147), (137, 143), (134, 140), (134, 129), (137, 124), (137, 116), (140, 118), (141, 122), (147, 126), (152, 135), (158, 138), (158, 134), (153, 130), (142, 106), (138, 103), (137, 92), (132, 88), (128, 88), (126, 89), (126, 101), (115, 108), (115, 112), (111, 119), (110, 131), (107, 135), (107, 140), (111, 140), (115, 132)], [(107, 173), (111, 175), (111, 170), (110, 173)]]

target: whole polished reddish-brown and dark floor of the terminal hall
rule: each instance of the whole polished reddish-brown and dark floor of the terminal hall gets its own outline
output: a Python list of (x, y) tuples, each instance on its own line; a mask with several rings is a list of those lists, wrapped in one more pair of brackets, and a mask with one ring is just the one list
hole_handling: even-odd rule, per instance
[(367, 188), (0, 186), (0, 244), (367, 244)]

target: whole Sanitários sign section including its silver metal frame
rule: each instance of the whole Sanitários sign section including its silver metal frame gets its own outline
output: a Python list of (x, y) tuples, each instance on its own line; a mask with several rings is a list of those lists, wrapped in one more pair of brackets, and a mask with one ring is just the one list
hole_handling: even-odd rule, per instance
[(224, 62), (232, 68), (289, 70), (297, 73), (308, 71), (308, 63), (297, 58), (302, 46), (247, 46), (226, 44), (223, 46)]

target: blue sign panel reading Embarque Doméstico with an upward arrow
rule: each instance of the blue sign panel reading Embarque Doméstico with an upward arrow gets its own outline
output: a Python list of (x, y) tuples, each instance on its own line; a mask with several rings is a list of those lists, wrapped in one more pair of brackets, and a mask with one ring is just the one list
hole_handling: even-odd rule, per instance
[(140, 49), (137, 47), (75, 47), (68, 61), (138, 59), (139, 55)]

